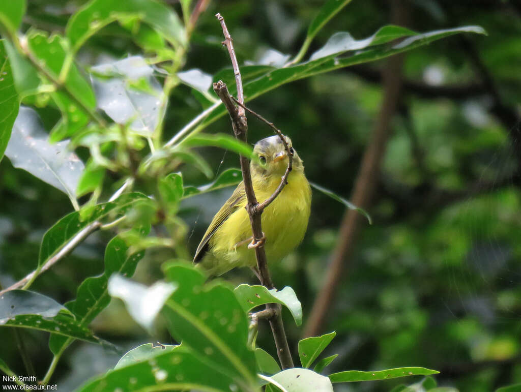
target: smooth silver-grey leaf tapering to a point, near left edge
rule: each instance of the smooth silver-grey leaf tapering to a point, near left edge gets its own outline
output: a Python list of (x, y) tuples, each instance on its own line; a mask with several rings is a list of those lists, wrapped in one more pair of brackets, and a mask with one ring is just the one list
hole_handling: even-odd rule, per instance
[(13, 166), (27, 170), (76, 200), (76, 188), (84, 165), (67, 149), (68, 145), (68, 141), (49, 143), (38, 114), (22, 106), (5, 155)]

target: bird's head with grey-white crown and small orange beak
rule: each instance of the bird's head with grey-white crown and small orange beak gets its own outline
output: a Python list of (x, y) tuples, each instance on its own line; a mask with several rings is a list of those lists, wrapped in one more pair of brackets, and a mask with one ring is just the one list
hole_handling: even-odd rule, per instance
[[(286, 142), (290, 147), (290, 151), (293, 151), (293, 170), (294, 171), (303, 171), (304, 163), (302, 159), (300, 159), (299, 155), (293, 149), (291, 145), (291, 139), (288, 136), (284, 136), (286, 138)], [(253, 148), (253, 152), (259, 158), (259, 162), (253, 161), (252, 169), (255, 172), (263, 175), (270, 174), (284, 174), (288, 167), (288, 153), (286, 148), (284, 148), (284, 144), (280, 140), (278, 135), (266, 137), (262, 140), (259, 140), (255, 147)]]

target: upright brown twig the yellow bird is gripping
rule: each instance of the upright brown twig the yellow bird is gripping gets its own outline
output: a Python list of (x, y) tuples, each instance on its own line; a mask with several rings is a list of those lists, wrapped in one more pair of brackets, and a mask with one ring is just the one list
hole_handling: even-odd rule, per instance
[[(233, 49), (232, 39), (226, 27), (224, 18), (222, 18), (220, 14), (217, 14), (216, 17), (221, 24), (222, 32), (225, 36), (224, 45), (226, 45), (226, 47), (228, 48), (228, 53), (232, 62), (233, 73), (235, 75), (235, 83), (237, 83), (237, 99), (240, 104), (244, 105), (241, 73), (239, 71), (237, 57), (235, 57), (235, 50)], [(248, 125), (244, 112), (244, 107), (235, 106), (234, 100), (231, 97), (230, 92), (228, 91), (228, 87), (225, 83), (223, 83), (222, 81), (218, 81), (217, 83), (214, 83), (213, 86), (215, 93), (225, 104), (226, 109), (230, 114), (235, 138), (246, 143)], [(255, 197), (255, 192), (253, 190), (252, 178), (250, 173), (250, 161), (247, 157), (241, 155), (240, 162), (242, 179), (244, 183), (244, 191), (247, 199), (246, 210), (250, 216), (250, 223), (252, 226), (254, 242), (258, 244), (258, 242), (261, 241), (261, 239), (264, 237), (261, 225), (262, 209), (257, 210), (258, 202)], [(257, 259), (257, 268), (259, 270), (259, 274), (261, 275), (261, 283), (268, 289), (274, 288), (273, 282), (271, 281), (271, 277), (269, 276), (266, 252), (263, 246), (255, 246), (255, 256)], [(267, 304), (266, 310), (275, 312), (275, 316), (269, 320), (269, 324), (271, 326), (271, 332), (273, 334), (275, 345), (277, 347), (277, 355), (279, 357), (280, 365), (282, 369), (293, 368), (293, 359), (291, 358), (291, 352), (288, 346), (288, 339), (286, 338), (284, 324), (282, 323), (282, 308), (279, 304)]]

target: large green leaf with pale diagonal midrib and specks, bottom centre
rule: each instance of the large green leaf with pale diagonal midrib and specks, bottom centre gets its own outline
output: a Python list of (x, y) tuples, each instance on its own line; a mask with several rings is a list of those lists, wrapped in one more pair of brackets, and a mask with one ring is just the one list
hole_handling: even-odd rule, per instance
[(213, 281), (186, 264), (168, 263), (168, 279), (179, 287), (167, 300), (163, 314), (170, 334), (203, 355), (214, 369), (255, 389), (255, 356), (247, 345), (246, 313), (228, 284)]

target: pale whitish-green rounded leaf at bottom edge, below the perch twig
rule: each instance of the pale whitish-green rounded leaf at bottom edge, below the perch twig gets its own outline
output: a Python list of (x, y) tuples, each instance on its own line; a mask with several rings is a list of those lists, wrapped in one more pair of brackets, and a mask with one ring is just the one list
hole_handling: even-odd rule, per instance
[[(333, 392), (329, 378), (309, 369), (287, 369), (270, 377), (288, 392)], [(278, 392), (272, 384), (266, 386), (266, 392)]]

